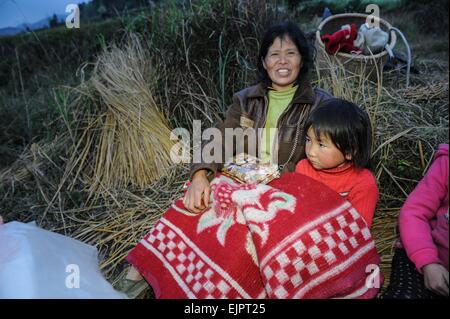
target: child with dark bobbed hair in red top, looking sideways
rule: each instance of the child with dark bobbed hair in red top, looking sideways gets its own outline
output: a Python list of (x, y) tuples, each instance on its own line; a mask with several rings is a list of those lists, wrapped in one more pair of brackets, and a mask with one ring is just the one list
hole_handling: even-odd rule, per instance
[(351, 102), (329, 99), (311, 111), (304, 129), (307, 159), (295, 171), (338, 192), (370, 228), (378, 187), (368, 170), (372, 128), (367, 113)]

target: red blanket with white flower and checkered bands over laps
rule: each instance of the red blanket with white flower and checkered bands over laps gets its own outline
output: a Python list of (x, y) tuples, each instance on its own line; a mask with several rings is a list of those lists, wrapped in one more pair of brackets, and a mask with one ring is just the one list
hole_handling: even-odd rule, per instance
[[(372, 298), (380, 259), (349, 202), (309, 177), (220, 176), (203, 214), (181, 199), (127, 256), (157, 298)], [(374, 271), (375, 270), (375, 271)]]

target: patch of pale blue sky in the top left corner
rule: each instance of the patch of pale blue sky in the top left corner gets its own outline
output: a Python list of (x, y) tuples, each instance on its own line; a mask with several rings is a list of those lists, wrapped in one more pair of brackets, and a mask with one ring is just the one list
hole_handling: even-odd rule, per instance
[(0, 0), (0, 28), (15, 27), (21, 23), (33, 23), (50, 17), (53, 13), (67, 14), (69, 3), (88, 0)]

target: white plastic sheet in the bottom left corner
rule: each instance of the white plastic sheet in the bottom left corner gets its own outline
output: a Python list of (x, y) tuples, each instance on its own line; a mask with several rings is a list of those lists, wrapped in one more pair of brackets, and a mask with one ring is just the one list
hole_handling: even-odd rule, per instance
[(98, 268), (97, 249), (34, 223), (0, 225), (1, 298), (126, 298)]

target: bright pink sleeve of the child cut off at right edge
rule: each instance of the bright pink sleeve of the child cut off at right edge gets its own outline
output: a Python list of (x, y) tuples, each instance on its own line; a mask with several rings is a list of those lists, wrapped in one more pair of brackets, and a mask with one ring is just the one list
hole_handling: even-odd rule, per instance
[(400, 237), (411, 261), (421, 268), (440, 263), (430, 221), (447, 193), (448, 156), (437, 158), (400, 210)]

